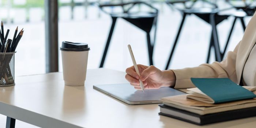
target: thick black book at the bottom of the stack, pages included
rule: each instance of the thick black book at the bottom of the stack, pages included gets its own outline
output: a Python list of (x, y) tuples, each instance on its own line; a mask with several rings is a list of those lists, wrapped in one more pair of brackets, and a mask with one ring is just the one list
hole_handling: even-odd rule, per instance
[(163, 103), (159, 104), (160, 115), (176, 118), (178, 120), (183, 120), (189, 123), (197, 125), (205, 125), (211, 123), (218, 123), (228, 120), (236, 120), (240, 118), (253, 117), (256, 116), (256, 107), (230, 110), (226, 112), (219, 112), (213, 114), (199, 115), (186, 110), (181, 110), (173, 108)]

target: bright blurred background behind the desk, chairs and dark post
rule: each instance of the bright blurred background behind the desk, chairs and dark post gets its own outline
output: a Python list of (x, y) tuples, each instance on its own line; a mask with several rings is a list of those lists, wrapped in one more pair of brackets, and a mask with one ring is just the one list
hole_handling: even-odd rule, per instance
[[(184, 1), (188, 2), (188, 7), (184, 6), (182, 3)], [(128, 2), (135, 2), (135, 0), (58, 0), (58, 47), (61, 46), (62, 41), (88, 43), (91, 50), (87, 68), (99, 68), (112, 25), (110, 14), (122, 11), (122, 8), (108, 6), (105, 9), (108, 12), (106, 13), (99, 7)], [(217, 25), (219, 48), (223, 58), (226, 54), (223, 53), (223, 50), (235, 18), (238, 19), (234, 24), (227, 51), (233, 50), (242, 39), (244, 29), (239, 18), (242, 17), (247, 25), (251, 14), (248, 14), (245, 9), (254, 7), (255, 3), (253, 0), (144, 0), (143, 2), (158, 10), (155, 27), (157, 29), (156, 31), (152, 29), (150, 34), (153, 38), (154, 33), (152, 34), (152, 32), (156, 32), (153, 62), (162, 70), (166, 68), (182, 15), (186, 9), (191, 9), (189, 7), (193, 3), (195, 4), (193, 7), (199, 9), (211, 8), (212, 5), (208, 5), (208, 2), (213, 3), (218, 7), (219, 12), (216, 14), (226, 15), (225, 19)], [(138, 4), (133, 11), (151, 12), (154, 9), (144, 4)], [(214, 10), (211, 11), (214, 12)], [(204, 13), (208, 13), (208, 11)], [(0, 20), (4, 23), (5, 31), (10, 29), (10, 37), (13, 36), (17, 26), (19, 30), (22, 28), (25, 30), (16, 49), (15, 76), (46, 73), (45, 1), (0, 0)], [(212, 24), (199, 18), (198, 15), (187, 15), (168, 69), (195, 67), (206, 63), (211, 34)], [(138, 64), (150, 65), (146, 37), (145, 31), (139, 27), (124, 18), (117, 18), (103, 67), (119, 71), (125, 71), (127, 67), (130, 67), (132, 61), (127, 48), (128, 44), (131, 44)], [(154, 39), (151, 41), (153, 42)], [(59, 71), (61, 72), (61, 54), (60, 50), (58, 51)], [(212, 47), (209, 63), (215, 60), (217, 60), (215, 50)], [(5, 116), (1, 116), (0, 127), (5, 126), (5, 119)], [(16, 127), (35, 126), (17, 120)]]

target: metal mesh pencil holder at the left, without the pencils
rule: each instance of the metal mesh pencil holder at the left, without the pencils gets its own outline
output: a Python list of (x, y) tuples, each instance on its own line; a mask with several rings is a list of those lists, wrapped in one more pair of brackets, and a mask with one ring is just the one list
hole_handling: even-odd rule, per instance
[(0, 53), (0, 87), (14, 86), (14, 54)]

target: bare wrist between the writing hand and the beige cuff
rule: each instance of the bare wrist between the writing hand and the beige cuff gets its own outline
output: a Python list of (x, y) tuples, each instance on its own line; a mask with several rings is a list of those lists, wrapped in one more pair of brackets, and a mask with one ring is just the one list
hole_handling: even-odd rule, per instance
[(176, 83), (176, 76), (172, 70), (164, 70), (163, 72), (163, 87), (174, 87)]

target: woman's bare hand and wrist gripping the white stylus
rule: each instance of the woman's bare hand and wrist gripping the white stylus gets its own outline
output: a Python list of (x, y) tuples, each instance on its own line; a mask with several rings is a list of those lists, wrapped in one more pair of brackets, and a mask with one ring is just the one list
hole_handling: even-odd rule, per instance
[(173, 71), (160, 69), (151, 65), (138, 64), (140, 76), (135, 72), (134, 66), (126, 69), (125, 79), (134, 86), (135, 89), (141, 90), (139, 79), (144, 84), (144, 89), (159, 89), (160, 87), (173, 87), (176, 77)]

